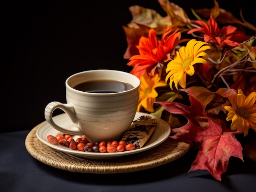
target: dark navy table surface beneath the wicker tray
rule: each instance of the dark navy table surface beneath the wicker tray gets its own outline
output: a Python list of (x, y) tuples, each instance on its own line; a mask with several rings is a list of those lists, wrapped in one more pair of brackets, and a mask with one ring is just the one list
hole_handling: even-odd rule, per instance
[(231, 157), (222, 181), (205, 170), (187, 174), (197, 154), (192, 148), (180, 159), (139, 172), (89, 174), (57, 169), (38, 161), (26, 150), (29, 131), (0, 134), (0, 188), (4, 192), (254, 192), (256, 189), (256, 163), (250, 159), (242, 162)]

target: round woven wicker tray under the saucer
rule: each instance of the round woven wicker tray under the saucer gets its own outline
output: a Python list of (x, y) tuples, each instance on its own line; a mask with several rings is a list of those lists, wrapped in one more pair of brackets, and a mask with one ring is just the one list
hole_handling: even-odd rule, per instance
[(188, 143), (167, 138), (155, 148), (124, 158), (85, 159), (55, 150), (42, 143), (36, 137), (36, 130), (39, 126), (40, 124), (34, 127), (25, 139), (29, 154), (49, 166), (70, 172), (94, 174), (136, 172), (170, 163), (182, 157), (190, 148)]

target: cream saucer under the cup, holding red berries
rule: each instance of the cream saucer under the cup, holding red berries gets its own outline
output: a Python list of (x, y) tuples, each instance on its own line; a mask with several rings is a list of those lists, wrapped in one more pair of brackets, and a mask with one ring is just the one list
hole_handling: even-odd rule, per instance
[[(136, 113), (134, 120), (138, 119), (142, 115), (149, 115), (149, 114)], [(69, 154), (73, 154), (78, 157), (84, 157), (84, 158), (89, 158), (89, 159), (114, 159), (114, 158), (124, 157), (124, 156), (130, 155), (130, 154), (135, 154), (135, 153), (149, 150), (149, 149), (163, 143), (168, 138), (168, 136), (171, 133), (171, 128), (166, 123), (166, 121), (159, 119), (153, 115), (149, 115), (149, 116), (157, 119), (157, 128), (155, 129), (155, 131), (153, 132), (151, 137), (148, 139), (148, 141), (145, 143), (143, 148), (131, 150), (131, 151), (115, 152), (115, 153), (83, 152), (83, 151), (79, 151), (79, 150), (72, 150), (72, 149), (62, 146), (60, 144), (53, 145), (47, 141), (47, 139), (46, 139), (47, 135), (56, 136), (58, 134), (63, 134), (63, 133), (54, 129), (46, 121), (44, 121), (43, 124), (38, 127), (38, 129), (36, 130), (36, 136), (38, 137), (38, 139), (40, 141), (45, 143), (47, 146), (54, 148), (56, 150), (62, 151), (62, 152), (67, 152)], [(63, 126), (63, 125), (72, 126), (73, 125), (72, 121), (70, 121), (70, 118), (65, 113), (63, 113), (61, 115), (56, 115), (55, 117), (53, 117), (53, 119), (56, 122), (56, 124), (58, 124), (60, 126)], [(74, 139), (76, 139), (77, 137), (81, 137), (81, 136), (74, 136)]]

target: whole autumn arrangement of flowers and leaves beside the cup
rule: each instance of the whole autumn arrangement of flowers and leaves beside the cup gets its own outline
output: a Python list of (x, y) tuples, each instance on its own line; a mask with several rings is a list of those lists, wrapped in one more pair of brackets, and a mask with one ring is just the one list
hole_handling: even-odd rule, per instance
[(208, 170), (221, 181), (231, 156), (256, 162), (256, 27), (216, 0), (191, 9), (195, 20), (158, 2), (167, 16), (134, 5), (123, 26), (124, 59), (141, 81), (137, 111), (164, 119), (170, 138), (197, 147), (189, 172)]

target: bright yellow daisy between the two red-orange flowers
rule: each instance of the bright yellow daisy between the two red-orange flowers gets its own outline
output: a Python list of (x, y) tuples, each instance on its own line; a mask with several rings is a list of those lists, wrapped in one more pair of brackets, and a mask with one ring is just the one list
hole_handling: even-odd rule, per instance
[(167, 64), (166, 68), (166, 73), (168, 74), (165, 81), (168, 82), (168, 79), (170, 79), (169, 84), (172, 90), (173, 82), (176, 89), (178, 89), (178, 83), (182, 88), (186, 88), (186, 74), (192, 76), (195, 73), (193, 64), (207, 64), (207, 61), (202, 58), (209, 57), (204, 52), (207, 49), (211, 49), (208, 43), (192, 39), (186, 46), (182, 46), (179, 51), (176, 51), (173, 60)]

